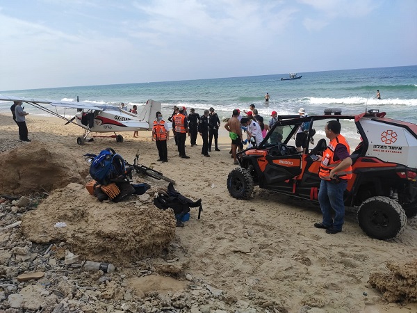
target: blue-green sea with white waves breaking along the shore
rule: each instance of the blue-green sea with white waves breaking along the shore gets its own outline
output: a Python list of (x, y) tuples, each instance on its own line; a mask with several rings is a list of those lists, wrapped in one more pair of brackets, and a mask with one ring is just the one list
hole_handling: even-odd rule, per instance
[[(387, 117), (417, 122), (417, 65), (382, 67), (361, 70), (336, 70), (327, 72), (297, 73), (301, 79), (281, 81), (288, 74), (190, 81), (163, 81), (156, 83), (126, 83), (120, 85), (44, 88), (33, 90), (4, 90), (1, 95), (80, 101), (92, 104), (136, 104), (138, 111), (147, 99), (162, 103), (162, 113), (167, 118), (172, 106), (194, 108), (202, 115), (211, 106), (220, 119), (231, 116), (233, 109), (248, 109), (254, 104), (265, 122), (270, 113), (296, 114), (302, 107), (309, 115), (322, 114), (327, 108), (340, 108), (345, 114), (358, 114), (369, 109), (387, 113)], [(381, 99), (376, 99), (377, 90)], [(270, 102), (264, 101), (266, 93)], [(0, 102), (0, 113), (10, 113), (9, 102)], [(24, 104), (31, 114), (45, 115), (43, 111)], [(54, 107), (49, 109), (55, 111)], [(65, 115), (76, 110), (66, 109)], [(64, 113), (59, 108), (58, 113)], [(353, 122), (343, 126), (347, 137), (357, 136)]]

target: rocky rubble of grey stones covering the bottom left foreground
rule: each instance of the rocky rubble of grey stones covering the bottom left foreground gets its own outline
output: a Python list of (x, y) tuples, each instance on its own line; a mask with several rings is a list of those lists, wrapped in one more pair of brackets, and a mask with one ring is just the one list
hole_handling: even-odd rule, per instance
[(19, 221), (43, 197), (0, 198), (0, 312), (286, 312), (280, 303), (250, 294), (239, 300), (186, 273), (175, 240), (159, 257), (113, 273), (85, 271), (67, 242), (33, 243), (22, 234)]

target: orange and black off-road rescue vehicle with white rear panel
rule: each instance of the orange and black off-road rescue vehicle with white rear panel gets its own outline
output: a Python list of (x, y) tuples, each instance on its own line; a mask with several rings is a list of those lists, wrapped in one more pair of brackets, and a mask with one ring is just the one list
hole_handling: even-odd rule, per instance
[[(353, 177), (347, 184), (345, 205), (357, 209), (359, 226), (368, 236), (392, 239), (404, 230), (407, 218), (417, 215), (417, 125), (385, 115), (377, 110), (342, 115), (341, 109), (305, 118), (281, 115), (258, 147), (238, 153), (240, 167), (227, 177), (229, 193), (247, 200), (258, 185), (318, 201), (320, 162), (312, 158), (326, 149), (329, 140), (322, 138), (312, 147), (314, 127), (322, 129), (329, 120), (350, 120), (361, 143), (351, 154)], [(309, 124), (306, 154), (290, 144), (302, 123)]]

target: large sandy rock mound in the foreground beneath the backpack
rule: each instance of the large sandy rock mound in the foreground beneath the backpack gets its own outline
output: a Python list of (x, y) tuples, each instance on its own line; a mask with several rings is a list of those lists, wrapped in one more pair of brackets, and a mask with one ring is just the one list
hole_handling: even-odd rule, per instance
[[(54, 227), (57, 222), (67, 227)], [(158, 255), (174, 239), (175, 219), (147, 194), (99, 202), (84, 186), (69, 184), (23, 216), (21, 227), (33, 242), (65, 241), (82, 259), (122, 265)]]

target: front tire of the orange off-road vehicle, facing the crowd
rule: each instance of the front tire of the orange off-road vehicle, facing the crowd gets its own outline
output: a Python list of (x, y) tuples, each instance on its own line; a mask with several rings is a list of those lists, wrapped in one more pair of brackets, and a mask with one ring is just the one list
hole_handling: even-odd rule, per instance
[(254, 191), (254, 179), (245, 168), (234, 168), (227, 176), (227, 189), (233, 198), (247, 200)]

